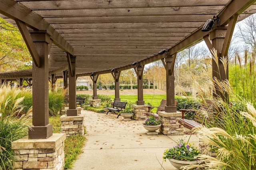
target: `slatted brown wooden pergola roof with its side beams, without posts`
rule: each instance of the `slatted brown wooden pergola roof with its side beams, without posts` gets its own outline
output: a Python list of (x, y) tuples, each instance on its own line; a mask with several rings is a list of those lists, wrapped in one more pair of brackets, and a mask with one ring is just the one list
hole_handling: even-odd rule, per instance
[[(0, 17), (28, 29), (46, 30), (53, 41), (49, 71), (67, 69), (67, 54), (76, 56), (77, 76), (125, 70), (148, 64), (193, 45), (208, 35), (204, 23), (214, 16), (226, 26), (256, 12), (256, 0), (0, 0)], [(27, 76), (32, 70), (2, 72)]]

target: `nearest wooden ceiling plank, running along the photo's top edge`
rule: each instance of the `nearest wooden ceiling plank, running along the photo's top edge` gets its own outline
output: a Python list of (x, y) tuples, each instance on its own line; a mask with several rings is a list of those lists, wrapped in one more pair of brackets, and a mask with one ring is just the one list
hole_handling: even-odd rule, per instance
[(101, 1), (100, 3), (95, 0), (16, 0), (28, 8), (42, 9), (42, 10), (67, 10), (67, 9), (95, 9), (95, 8), (142, 8), (148, 7), (181, 7), (181, 6), (210, 6), (210, 5), (226, 5), (229, 0), (119, 0), (119, 1)]

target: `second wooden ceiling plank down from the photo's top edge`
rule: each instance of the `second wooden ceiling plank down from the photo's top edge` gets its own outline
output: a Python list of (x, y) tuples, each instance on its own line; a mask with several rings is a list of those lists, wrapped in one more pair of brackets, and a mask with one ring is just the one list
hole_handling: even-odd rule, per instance
[[(43, 18), (52, 17), (118, 17), (118, 16), (169, 16), (217, 14), (224, 6), (181, 6), (150, 8), (95, 8), (71, 10), (35, 10)], [(207, 9), (206, 9), (207, 8)]]

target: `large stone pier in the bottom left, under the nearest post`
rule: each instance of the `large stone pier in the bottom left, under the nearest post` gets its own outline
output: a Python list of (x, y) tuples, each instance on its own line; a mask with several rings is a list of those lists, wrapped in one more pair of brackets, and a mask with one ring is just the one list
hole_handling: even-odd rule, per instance
[(64, 170), (63, 133), (54, 133), (48, 139), (24, 137), (12, 142), (14, 170)]

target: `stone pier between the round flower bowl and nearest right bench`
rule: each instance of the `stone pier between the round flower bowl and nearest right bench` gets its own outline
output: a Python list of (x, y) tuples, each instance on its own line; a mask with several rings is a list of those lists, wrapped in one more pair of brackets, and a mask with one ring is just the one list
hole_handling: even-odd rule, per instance
[(159, 131), (164, 135), (184, 135), (184, 126), (178, 123), (182, 116), (180, 111), (176, 113), (166, 113), (165, 111), (158, 111), (159, 120), (162, 126)]

